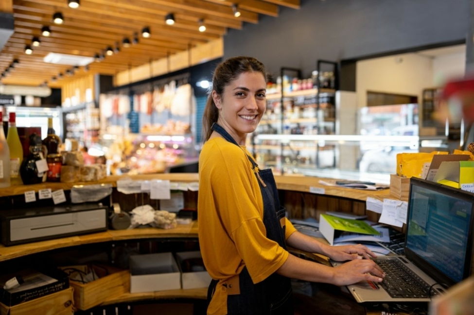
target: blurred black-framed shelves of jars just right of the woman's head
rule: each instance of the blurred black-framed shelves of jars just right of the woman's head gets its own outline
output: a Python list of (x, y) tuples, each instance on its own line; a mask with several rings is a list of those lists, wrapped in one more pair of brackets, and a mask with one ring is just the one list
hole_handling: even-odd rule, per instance
[[(299, 69), (281, 68), (277, 92), (267, 95), (267, 111), (259, 128), (250, 137), (253, 141), (249, 148), (260, 166), (271, 167), (276, 174), (293, 173), (295, 170), (300, 170), (301, 174), (307, 173), (308, 167), (294, 167), (298, 165), (334, 168), (334, 146), (255, 139), (258, 135), (272, 134), (334, 134), (336, 68), (334, 62), (317, 61), (317, 75), (311, 79), (301, 79)], [(308, 82), (312, 88), (307, 88)]]

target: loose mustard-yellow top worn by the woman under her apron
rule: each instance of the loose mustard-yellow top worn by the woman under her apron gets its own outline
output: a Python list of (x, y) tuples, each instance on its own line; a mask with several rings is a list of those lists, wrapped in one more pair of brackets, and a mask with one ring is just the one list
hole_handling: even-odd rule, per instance
[[(199, 244), (206, 269), (219, 280), (208, 314), (227, 314), (223, 282), (246, 265), (254, 283), (266, 279), (288, 252), (266, 238), (263, 199), (245, 146), (223, 138), (207, 141), (199, 155)], [(288, 238), (296, 229), (286, 220)]]

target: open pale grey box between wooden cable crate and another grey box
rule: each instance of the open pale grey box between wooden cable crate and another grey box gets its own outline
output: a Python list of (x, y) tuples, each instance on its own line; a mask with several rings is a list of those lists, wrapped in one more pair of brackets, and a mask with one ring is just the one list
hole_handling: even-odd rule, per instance
[(181, 289), (181, 273), (170, 252), (130, 256), (130, 293)]

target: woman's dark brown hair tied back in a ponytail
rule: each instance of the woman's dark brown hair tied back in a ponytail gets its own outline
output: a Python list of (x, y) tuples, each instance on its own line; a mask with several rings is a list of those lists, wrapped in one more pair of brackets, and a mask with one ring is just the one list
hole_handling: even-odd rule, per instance
[(219, 111), (215, 106), (214, 99), (212, 99), (212, 91), (216, 91), (217, 94), (222, 96), (224, 88), (227, 85), (237, 79), (242, 73), (252, 71), (261, 72), (265, 80), (267, 79), (265, 66), (253, 57), (232, 57), (216, 66), (214, 75), (212, 76), (212, 87), (209, 91), (208, 100), (202, 116), (202, 137), (204, 142), (211, 137), (212, 124), (217, 122), (217, 118), (219, 118)]

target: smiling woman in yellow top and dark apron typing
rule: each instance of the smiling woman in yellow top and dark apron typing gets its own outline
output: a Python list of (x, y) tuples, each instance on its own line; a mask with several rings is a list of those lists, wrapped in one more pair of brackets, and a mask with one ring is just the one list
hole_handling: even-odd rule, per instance
[[(290, 278), (346, 285), (384, 276), (365, 246), (325, 245), (285, 218), (271, 170), (260, 170), (245, 147), (265, 112), (265, 88), (261, 62), (229, 58), (214, 71), (204, 110), (198, 222), (213, 279), (208, 314), (293, 314)], [(287, 245), (351, 262), (328, 267), (289, 254)]]

